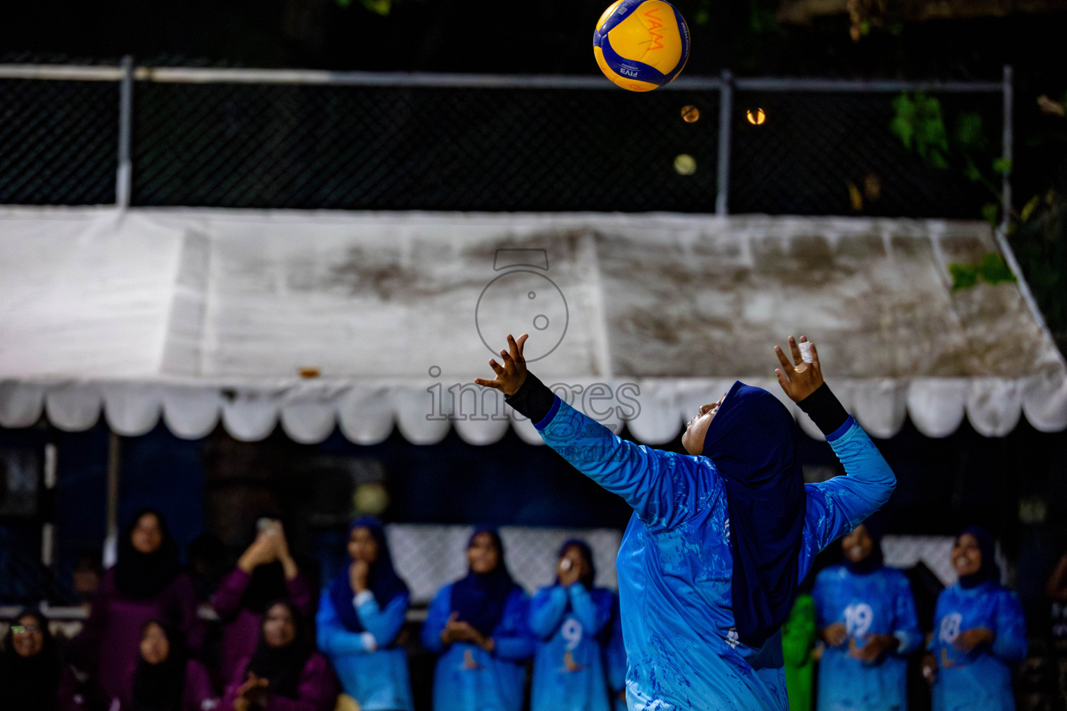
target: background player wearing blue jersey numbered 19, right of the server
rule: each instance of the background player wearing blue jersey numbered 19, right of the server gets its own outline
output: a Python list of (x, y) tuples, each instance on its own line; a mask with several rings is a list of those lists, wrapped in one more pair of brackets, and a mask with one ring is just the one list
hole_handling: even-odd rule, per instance
[(907, 656), (923, 633), (908, 579), (886, 567), (877, 520), (841, 539), (845, 561), (815, 578), (815, 624), (826, 643), (818, 711), (908, 708)]

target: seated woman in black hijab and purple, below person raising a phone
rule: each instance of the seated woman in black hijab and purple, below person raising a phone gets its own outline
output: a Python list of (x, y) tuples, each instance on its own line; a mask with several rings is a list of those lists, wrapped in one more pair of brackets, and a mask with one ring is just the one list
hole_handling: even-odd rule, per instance
[(333, 711), (337, 682), (297, 607), (268, 605), (259, 642), (226, 686), (224, 711)]

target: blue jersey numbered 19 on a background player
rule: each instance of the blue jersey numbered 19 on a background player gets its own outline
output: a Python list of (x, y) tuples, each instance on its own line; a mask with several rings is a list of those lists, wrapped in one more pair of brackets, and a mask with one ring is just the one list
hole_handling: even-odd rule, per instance
[[(828, 647), (818, 666), (818, 711), (881, 711), (908, 708), (907, 656), (919, 649), (923, 633), (908, 579), (881, 567), (855, 575), (835, 565), (815, 577), (815, 624), (819, 628), (842, 623), (848, 637)], [(862, 647), (867, 635), (886, 634), (899, 641), (896, 651), (874, 662), (849, 653)]]

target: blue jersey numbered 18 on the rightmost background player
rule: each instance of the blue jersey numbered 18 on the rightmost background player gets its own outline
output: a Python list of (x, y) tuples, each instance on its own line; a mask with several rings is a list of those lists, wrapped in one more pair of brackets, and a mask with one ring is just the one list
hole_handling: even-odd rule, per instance
[[(956, 647), (959, 633), (985, 627), (991, 645), (970, 653)], [(930, 651), (937, 659), (934, 711), (1014, 711), (1012, 666), (1026, 657), (1026, 624), (1016, 596), (994, 582), (941, 591), (934, 611)]]

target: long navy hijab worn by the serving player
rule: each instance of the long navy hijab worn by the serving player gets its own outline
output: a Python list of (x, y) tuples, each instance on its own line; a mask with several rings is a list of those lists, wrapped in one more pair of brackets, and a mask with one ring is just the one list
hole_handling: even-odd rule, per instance
[(799, 585), (807, 499), (794, 426), (775, 395), (737, 381), (704, 436), (727, 488), (734, 624), (751, 647), (790, 616)]

